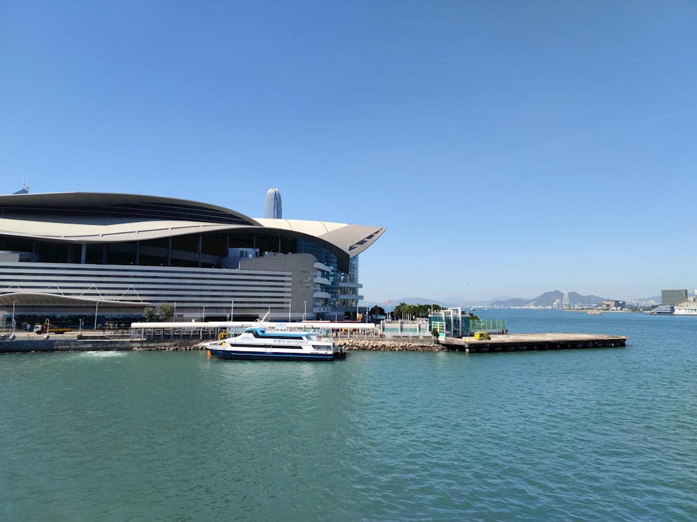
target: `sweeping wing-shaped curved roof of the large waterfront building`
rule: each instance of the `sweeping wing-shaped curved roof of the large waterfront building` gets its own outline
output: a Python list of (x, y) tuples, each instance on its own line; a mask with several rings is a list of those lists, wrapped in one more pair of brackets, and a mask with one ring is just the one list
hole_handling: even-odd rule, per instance
[[(383, 227), (328, 221), (252, 219), (206, 203), (120, 193), (8, 194), (0, 196), (0, 211), (0, 235), (107, 243), (263, 228), (281, 237), (313, 239), (335, 253), (340, 264), (385, 232)], [(192, 219), (197, 215), (203, 219)]]

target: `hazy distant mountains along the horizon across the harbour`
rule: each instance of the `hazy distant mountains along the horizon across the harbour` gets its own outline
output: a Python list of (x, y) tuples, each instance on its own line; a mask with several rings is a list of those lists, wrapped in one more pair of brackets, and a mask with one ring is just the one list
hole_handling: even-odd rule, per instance
[[(406, 303), (410, 305), (436, 304), (438, 306), (443, 306), (443, 308), (451, 308), (456, 306), (461, 306), (463, 308), (476, 306), (491, 306), (492, 308), (521, 308), (522, 306), (539, 306), (544, 308), (547, 306), (553, 306), (557, 300), (561, 304), (563, 299), (564, 292), (560, 292), (559, 290), (544, 292), (544, 294), (533, 299), (500, 296), (493, 299), (488, 299), (486, 301), (470, 301), (464, 297), (448, 297), (447, 299), (440, 301), (438, 299), (426, 299), (424, 297), (404, 297), (401, 299), (392, 299), (390, 308), (394, 309), (395, 306), (399, 305), (399, 303)], [(597, 306), (603, 301), (611, 301), (611, 299), (599, 297), (597, 295), (581, 295), (576, 292), (569, 292), (569, 304), (572, 306)], [(661, 297), (647, 297), (645, 299), (637, 299), (637, 301), (655, 301), (660, 303)], [(378, 303), (378, 306), (387, 308), (384, 303)]]

